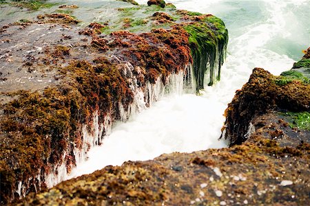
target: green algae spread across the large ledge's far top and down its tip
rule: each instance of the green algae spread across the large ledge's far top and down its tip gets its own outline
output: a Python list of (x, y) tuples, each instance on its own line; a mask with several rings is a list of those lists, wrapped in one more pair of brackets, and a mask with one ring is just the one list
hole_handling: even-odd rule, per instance
[[(197, 90), (203, 89), (205, 86), (204, 80), (207, 69), (209, 69), (209, 74), (207, 74), (209, 76), (209, 82), (206, 84), (214, 84), (214, 82), (220, 80), (220, 66), (225, 59), (228, 42), (228, 32), (225, 28), (225, 24), (216, 16), (203, 15), (198, 12), (179, 11), (175, 10), (172, 5), (171, 8), (169, 7), (165, 9), (158, 5), (151, 5), (147, 8), (143, 6), (119, 8), (118, 11), (121, 12), (121, 16), (125, 16), (123, 28), (130, 32), (145, 32), (159, 27), (169, 28), (173, 25), (178, 25), (178, 23), (173, 23), (172, 21), (179, 21), (182, 16), (191, 16), (189, 20), (192, 21), (192, 23), (185, 23), (183, 28), (187, 30), (189, 34), (189, 45), (194, 59), (194, 76), (196, 78), (196, 85), (198, 85)], [(142, 14), (152, 14), (152, 16), (146, 16), (145, 18), (140, 17), (134, 20), (134, 15), (139, 12), (140, 15), (142, 12)], [(165, 14), (165, 16), (154, 16), (154, 14), (156, 14), (154, 12), (160, 14), (165, 14), (163, 12), (167, 12), (167, 14)], [(167, 16), (170, 18), (167, 19)], [(199, 16), (199, 19), (193, 19), (192, 17), (194, 16)], [(149, 19), (153, 21), (149, 21)], [(144, 26), (141, 27), (141, 25)], [(112, 28), (112, 30), (116, 29), (117, 27), (114, 29)], [(111, 32), (111, 30), (109, 30), (109, 32)], [(105, 34), (107, 34), (107, 32), (105, 32)]]

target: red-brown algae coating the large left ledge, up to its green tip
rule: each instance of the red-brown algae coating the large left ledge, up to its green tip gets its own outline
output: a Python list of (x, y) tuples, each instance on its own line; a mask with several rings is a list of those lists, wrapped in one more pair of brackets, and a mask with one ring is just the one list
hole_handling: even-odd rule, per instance
[[(153, 21), (162, 21), (155, 16)], [(34, 34), (37, 27), (50, 31), (37, 33), (39, 38), (30, 35), (36, 47), (31, 50), (25, 44), (29, 53), (10, 51), (19, 55), (8, 61), (8, 68), (21, 65), (19, 71), (27, 71), (29, 78), (21, 76), (22, 72), (6, 73), (6, 81), (12, 84), (18, 76), (41, 83), (19, 82), (26, 85), (26, 91), (12, 87), (1, 93), (3, 99), (13, 99), (1, 103), (1, 188), (6, 188), (1, 190), (1, 203), (44, 189), (45, 178), (57, 172), (57, 167), (65, 165), (69, 172), (76, 164), (74, 152), (85, 144), (83, 126), (90, 135), (94, 133), (94, 113), (99, 116), (98, 124), (121, 118), (119, 105), (127, 110), (134, 98), (134, 81), (124, 70), (127, 62), (134, 68), (134, 87), (141, 88), (158, 78), (167, 84), (169, 75), (193, 63), (183, 25), (174, 23), (168, 14), (159, 16), (163, 21), (173, 20), (173, 25), (140, 34), (114, 31), (101, 35), (108, 23), (90, 23), (80, 30), (75, 26), (80, 21), (73, 16), (53, 13), (1, 27), (1, 35), (10, 38), (5, 40), (8, 48), (20, 41), (23, 32)], [(42, 36), (50, 38), (45, 40), (50, 45), (45, 45)], [(105, 122), (107, 116), (110, 120)]]

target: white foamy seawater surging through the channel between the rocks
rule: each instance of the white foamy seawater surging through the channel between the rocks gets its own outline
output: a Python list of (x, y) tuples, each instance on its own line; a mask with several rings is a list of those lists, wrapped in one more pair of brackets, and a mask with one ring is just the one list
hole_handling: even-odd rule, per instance
[[(146, 3), (139, 1), (138, 3)], [(169, 152), (223, 148), (218, 140), (227, 104), (249, 79), (254, 67), (275, 75), (292, 67), (310, 45), (309, 1), (166, 1), (177, 8), (214, 14), (229, 30), (227, 59), (221, 80), (201, 95), (169, 94), (134, 116), (118, 122), (103, 144), (70, 177), (106, 165), (153, 159)]]

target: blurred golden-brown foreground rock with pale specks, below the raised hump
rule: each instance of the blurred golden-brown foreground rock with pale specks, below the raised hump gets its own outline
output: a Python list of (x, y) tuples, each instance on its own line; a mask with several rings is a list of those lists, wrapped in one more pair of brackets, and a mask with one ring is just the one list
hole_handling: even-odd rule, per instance
[(107, 166), (20, 205), (307, 205), (309, 130), (277, 113), (252, 122), (242, 145)]

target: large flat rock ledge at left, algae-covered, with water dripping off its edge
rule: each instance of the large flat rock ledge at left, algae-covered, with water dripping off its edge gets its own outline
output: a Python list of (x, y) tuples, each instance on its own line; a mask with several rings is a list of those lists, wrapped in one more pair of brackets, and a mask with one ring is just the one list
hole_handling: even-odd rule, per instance
[[(12, 6), (33, 9), (27, 3), (1, 4), (0, 13)], [(215, 16), (189, 18), (172, 5), (109, 3), (116, 18), (100, 23), (85, 23), (90, 15), (84, 12), (94, 11), (83, 10), (79, 2), (60, 8), (35, 4), (37, 12), (17, 10), (15, 16), (27, 19), (1, 21), (8, 22), (0, 27), (1, 203), (56, 183), (48, 182), (49, 174), (70, 172), (83, 152), (100, 144), (112, 122), (126, 120), (133, 107), (138, 110), (137, 92), (148, 106), (154, 83), (167, 84), (179, 72), (187, 78), (203, 42), (227, 43), (227, 30)], [(204, 30), (192, 32), (191, 25)], [(203, 47), (221, 52), (210, 55), (223, 60), (219, 48), (220, 43)]]

